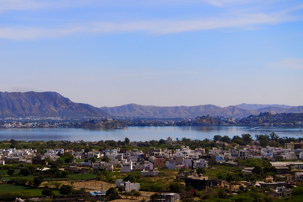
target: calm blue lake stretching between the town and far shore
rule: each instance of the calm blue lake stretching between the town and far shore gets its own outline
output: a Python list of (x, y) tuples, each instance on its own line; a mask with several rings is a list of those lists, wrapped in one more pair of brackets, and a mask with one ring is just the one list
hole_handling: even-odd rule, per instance
[(130, 141), (166, 140), (172, 137), (173, 140), (183, 137), (190, 139), (204, 140), (213, 139), (214, 135), (221, 135), (232, 138), (241, 134), (270, 134), (275, 132), (279, 137), (302, 137), (302, 126), (159, 126), (159, 127), (127, 127), (126, 129), (106, 128), (11, 128), (0, 130), (0, 140), (67, 140), (67, 141), (100, 141), (114, 140), (124, 141), (128, 137)]

